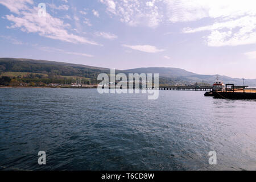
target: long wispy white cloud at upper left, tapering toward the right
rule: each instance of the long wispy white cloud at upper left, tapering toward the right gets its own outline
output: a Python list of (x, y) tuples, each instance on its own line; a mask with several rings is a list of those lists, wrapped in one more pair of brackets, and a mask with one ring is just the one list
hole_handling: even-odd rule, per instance
[[(1, 0), (0, 3), (5, 5), (7, 1)], [(54, 18), (46, 13), (46, 16), (38, 16), (38, 7), (30, 7), (32, 1), (8, 1), (7, 8), (18, 15), (6, 15), (5, 18), (13, 22), (7, 28), (19, 28), (28, 33), (38, 33), (50, 39), (61, 40), (69, 43), (84, 43), (100, 45), (96, 42), (88, 40), (82, 36), (77, 36), (68, 32), (69, 24), (65, 24), (63, 20)]]

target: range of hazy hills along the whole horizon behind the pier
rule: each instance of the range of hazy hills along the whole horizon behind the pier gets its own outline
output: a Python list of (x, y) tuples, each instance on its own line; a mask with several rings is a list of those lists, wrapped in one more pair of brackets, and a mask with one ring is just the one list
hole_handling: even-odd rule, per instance
[[(116, 70), (116, 73), (159, 73), (160, 84), (195, 84), (206, 83), (212, 84), (215, 80), (215, 75), (199, 75), (196, 73), (185, 71), (185, 69), (179, 68), (161, 68), (161, 67), (150, 67), (150, 68), (135, 68), (126, 70)], [(15, 73), (15, 74), (14, 74)], [(24, 74), (21, 74), (24, 73)], [(27, 76), (25, 73), (33, 73)], [(38, 74), (41, 75), (38, 75)], [(72, 77), (84, 78), (84, 80), (91, 82), (97, 82), (97, 76), (100, 73), (110, 73), (109, 68), (92, 67), (89, 65), (63, 63), (57, 61), (46, 61), (46, 60), (33, 60), (33, 59), (16, 59), (16, 58), (0, 58), (0, 74), (19, 76), (19, 78), (26, 77), (25, 81), (36, 81), (40, 77), (48, 79), (48, 82), (64, 82), (63, 78), (69, 78), (69, 82)], [(35, 77), (36, 76), (36, 77)], [(28, 80), (30, 77), (30, 80)], [(50, 80), (49, 80), (50, 79)], [(231, 78), (227, 76), (219, 76), (219, 80), (224, 83), (233, 83), (236, 85), (242, 85), (241, 78)], [(24, 81), (24, 79), (22, 80)], [(68, 81), (65, 80), (67, 83)], [(256, 79), (246, 80), (246, 85), (256, 86)]]

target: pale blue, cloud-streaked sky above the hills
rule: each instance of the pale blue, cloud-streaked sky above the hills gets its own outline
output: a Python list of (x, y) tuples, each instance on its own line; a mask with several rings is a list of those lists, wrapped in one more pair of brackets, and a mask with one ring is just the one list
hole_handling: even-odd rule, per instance
[(0, 0), (0, 25), (0, 57), (256, 78), (255, 0)]

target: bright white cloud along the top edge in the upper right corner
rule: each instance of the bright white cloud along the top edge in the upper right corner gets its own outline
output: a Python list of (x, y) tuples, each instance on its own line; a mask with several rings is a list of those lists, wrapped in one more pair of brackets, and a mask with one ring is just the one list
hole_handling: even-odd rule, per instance
[(255, 15), (254, 0), (163, 0), (171, 22), (188, 22), (202, 18), (233, 19)]

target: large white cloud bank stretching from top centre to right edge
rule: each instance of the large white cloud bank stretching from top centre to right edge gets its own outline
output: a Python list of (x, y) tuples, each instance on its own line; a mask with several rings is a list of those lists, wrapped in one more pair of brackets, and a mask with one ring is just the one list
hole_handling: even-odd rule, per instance
[[(255, 44), (255, 0), (100, 0), (106, 11), (130, 26), (158, 27), (160, 23), (195, 22), (204, 24), (187, 27), (184, 33), (208, 31), (208, 46)], [(199, 23), (197, 23), (199, 24)], [(217, 38), (217, 40), (215, 40)]]

